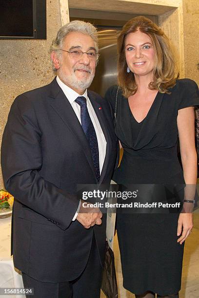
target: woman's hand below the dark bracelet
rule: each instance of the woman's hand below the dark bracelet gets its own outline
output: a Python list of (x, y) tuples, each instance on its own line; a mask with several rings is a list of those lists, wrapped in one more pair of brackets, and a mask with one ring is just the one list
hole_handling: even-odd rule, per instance
[(180, 213), (179, 220), (178, 220), (177, 236), (179, 236), (181, 233), (182, 235), (179, 237), (177, 242), (182, 244), (191, 233), (192, 228), (193, 228), (193, 213)]

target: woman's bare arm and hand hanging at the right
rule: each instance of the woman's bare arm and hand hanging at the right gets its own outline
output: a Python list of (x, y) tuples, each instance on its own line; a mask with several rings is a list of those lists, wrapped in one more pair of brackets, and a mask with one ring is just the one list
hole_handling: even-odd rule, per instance
[[(195, 148), (195, 129), (194, 129), (194, 108), (188, 107), (180, 109), (177, 117), (179, 131), (179, 146), (183, 168), (184, 180), (184, 199), (194, 200), (196, 181), (197, 181), (197, 154)], [(192, 203), (183, 203), (183, 209), (179, 214), (177, 235), (180, 236), (178, 242), (182, 244), (189, 236), (193, 227), (193, 208)]]

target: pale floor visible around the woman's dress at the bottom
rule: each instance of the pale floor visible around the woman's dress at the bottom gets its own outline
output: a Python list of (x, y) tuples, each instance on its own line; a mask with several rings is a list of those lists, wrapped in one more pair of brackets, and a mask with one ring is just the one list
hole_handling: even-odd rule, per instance
[[(114, 249), (119, 298), (134, 298), (135, 296), (122, 286), (117, 237), (115, 237)], [(101, 293), (100, 298), (105, 298), (103, 293)], [(179, 298), (199, 298), (199, 209), (194, 213), (194, 228), (185, 244), (182, 284)]]

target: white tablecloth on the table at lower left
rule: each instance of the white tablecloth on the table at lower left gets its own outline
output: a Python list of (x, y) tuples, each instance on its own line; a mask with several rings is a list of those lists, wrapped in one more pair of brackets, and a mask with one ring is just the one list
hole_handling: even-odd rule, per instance
[[(10, 257), (11, 245), (11, 216), (0, 219), (0, 288), (23, 288), (20, 271), (14, 268)], [(18, 298), (25, 295), (3, 295), (0, 298)]]

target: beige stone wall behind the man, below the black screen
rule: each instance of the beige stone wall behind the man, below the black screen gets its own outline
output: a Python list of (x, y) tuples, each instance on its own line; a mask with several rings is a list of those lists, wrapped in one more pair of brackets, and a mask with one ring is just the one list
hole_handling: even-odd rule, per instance
[[(0, 143), (14, 98), (25, 91), (48, 84), (54, 77), (48, 54), (61, 26), (59, 0), (47, 0), (46, 40), (0, 40)], [(0, 188), (3, 186), (0, 171)]]

